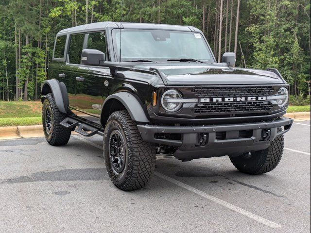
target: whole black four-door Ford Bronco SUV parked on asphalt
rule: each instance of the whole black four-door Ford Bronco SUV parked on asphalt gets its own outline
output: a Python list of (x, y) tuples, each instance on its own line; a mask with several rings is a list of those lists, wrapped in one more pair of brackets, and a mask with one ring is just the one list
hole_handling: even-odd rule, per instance
[(276, 69), (216, 59), (190, 26), (99, 22), (57, 33), (42, 121), (51, 145), (72, 131), (104, 137), (104, 160), (122, 190), (143, 187), (156, 154), (181, 161), (228, 155), (247, 174), (281, 159), (289, 85)]

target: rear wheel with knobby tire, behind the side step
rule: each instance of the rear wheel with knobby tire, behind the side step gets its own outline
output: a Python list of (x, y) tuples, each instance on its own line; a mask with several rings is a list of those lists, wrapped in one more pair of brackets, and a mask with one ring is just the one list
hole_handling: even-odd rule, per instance
[[(71, 130), (60, 125), (60, 122), (66, 117), (66, 114), (58, 110), (53, 94), (47, 94), (42, 106), (42, 125), (45, 138), (50, 145), (61, 146), (68, 143)], [(47, 120), (48, 118), (50, 120)], [(49, 127), (47, 127), (47, 124)]]

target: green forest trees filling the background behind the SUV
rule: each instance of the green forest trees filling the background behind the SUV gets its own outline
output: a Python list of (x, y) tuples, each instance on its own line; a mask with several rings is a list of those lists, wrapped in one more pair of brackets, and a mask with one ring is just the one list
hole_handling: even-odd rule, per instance
[[(55, 34), (86, 22), (120, 21), (122, 15), (122, 20), (127, 22), (191, 25), (205, 33), (215, 56), (219, 38), (221, 53), (232, 51), (236, 43), (238, 0), (223, 1), (222, 16), (220, 2), (3, 0), (0, 6), (0, 21), (4, 25), (0, 27), (0, 99), (38, 98), (51, 61)], [(228, 15), (225, 14), (227, 8)], [(218, 36), (220, 17), (223, 17), (221, 37)], [(305, 82), (310, 81), (310, 0), (241, 1), (238, 26), (237, 43), (241, 48), (238, 46), (236, 64), (247, 68), (277, 68), (291, 84), (291, 94), (296, 99), (302, 98), (300, 96), (304, 99), (310, 91)], [(229, 43), (230, 48), (225, 48)]]

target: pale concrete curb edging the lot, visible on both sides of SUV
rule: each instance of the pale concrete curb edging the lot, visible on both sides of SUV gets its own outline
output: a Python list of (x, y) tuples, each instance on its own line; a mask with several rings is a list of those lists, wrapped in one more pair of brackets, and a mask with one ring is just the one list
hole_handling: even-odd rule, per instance
[[(310, 112), (287, 113), (285, 116), (295, 121), (310, 120)], [(0, 127), (0, 140), (30, 137), (44, 137), (42, 125)]]

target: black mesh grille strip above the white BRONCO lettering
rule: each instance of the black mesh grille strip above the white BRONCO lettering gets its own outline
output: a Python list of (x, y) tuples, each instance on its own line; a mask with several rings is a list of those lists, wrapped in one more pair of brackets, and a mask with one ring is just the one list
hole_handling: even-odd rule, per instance
[(273, 86), (216, 86), (216, 87), (194, 87), (191, 92), (199, 98), (210, 97), (249, 97), (269, 96), (274, 91)]

